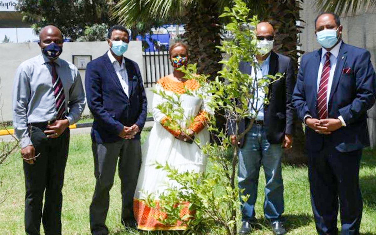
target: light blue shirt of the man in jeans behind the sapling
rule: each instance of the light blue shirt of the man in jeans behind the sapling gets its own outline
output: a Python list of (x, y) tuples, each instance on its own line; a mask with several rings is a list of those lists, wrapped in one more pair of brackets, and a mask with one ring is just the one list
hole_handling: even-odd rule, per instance
[[(261, 65), (259, 68), (257, 68), (257, 77), (256, 79), (262, 79), (265, 75), (269, 74), (269, 62), (270, 62), (270, 54), (269, 56), (262, 61)], [(251, 76), (255, 77), (255, 69), (252, 67), (252, 72)], [(257, 89), (257, 94), (255, 95), (255, 102), (258, 100), (257, 104), (255, 105), (256, 110), (258, 110), (258, 114), (256, 119), (264, 121), (264, 98), (265, 98), (265, 93), (264, 89), (258, 88)], [(250, 115), (254, 114), (254, 111), (252, 110), (252, 104), (249, 104), (249, 110), (250, 110)]]

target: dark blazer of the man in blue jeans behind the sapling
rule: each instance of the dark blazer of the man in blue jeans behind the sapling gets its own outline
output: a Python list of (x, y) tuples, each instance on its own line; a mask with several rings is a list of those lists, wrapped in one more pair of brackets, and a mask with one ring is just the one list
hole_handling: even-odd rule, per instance
[[(264, 127), (267, 139), (270, 144), (282, 143), (285, 134), (293, 134), (294, 107), (291, 96), (295, 85), (295, 71), (293, 61), (279, 53), (270, 53), (269, 73), (284, 74), (280, 80), (269, 85), (269, 104), (264, 106)], [(252, 68), (249, 62), (240, 62), (239, 69), (245, 74), (251, 74)], [(247, 120), (239, 123), (239, 133), (246, 129)], [(228, 122), (228, 131), (232, 135), (235, 130), (235, 123)], [(243, 147), (244, 139), (240, 139), (240, 146)]]

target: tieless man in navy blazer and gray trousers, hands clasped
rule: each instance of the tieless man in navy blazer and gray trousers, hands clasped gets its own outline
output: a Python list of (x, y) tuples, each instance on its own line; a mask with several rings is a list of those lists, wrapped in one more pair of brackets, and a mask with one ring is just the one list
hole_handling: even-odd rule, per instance
[(133, 194), (141, 164), (140, 133), (147, 115), (139, 67), (123, 56), (129, 43), (127, 29), (113, 26), (107, 38), (109, 51), (87, 65), (85, 77), (86, 98), (94, 115), (91, 139), (97, 182), (90, 205), (93, 235), (108, 234), (105, 221), (109, 191), (119, 157), (121, 222), (124, 226), (135, 225)]

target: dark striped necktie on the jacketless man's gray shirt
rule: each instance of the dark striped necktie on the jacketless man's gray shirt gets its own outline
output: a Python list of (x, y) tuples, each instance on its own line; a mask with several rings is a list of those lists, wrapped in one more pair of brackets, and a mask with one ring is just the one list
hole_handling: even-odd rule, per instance
[(65, 114), (65, 95), (64, 95), (64, 88), (63, 84), (61, 83), (61, 79), (58, 76), (58, 73), (56, 73), (56, 63), (51, 61), (50, 65), (52, 67), (52, 89), (53, 94), (55, 96), (55, 107), (56, 112), (58, 115), (56, 115), (56, 119), (61, 119), (62, 116)]

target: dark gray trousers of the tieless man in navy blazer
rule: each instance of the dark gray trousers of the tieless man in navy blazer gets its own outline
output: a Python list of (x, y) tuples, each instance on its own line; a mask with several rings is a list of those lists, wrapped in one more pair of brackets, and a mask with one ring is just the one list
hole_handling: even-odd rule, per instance
[[(90, 205), (90, 230), (93, 235), (107, 234), (105, 225), (109, 208), (109, 191), (114, 184), (118, 162), (121, 182), (121, 222), (133, 219), (133, 196), (141, 165), (139, 139), (122, 139), (115, 143), (92, 143), (96, 186)], [(119, 161), (118, 161), (119, 158)]]

